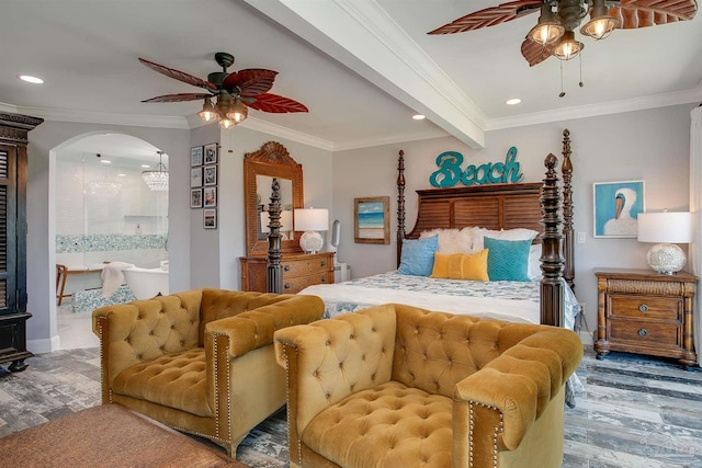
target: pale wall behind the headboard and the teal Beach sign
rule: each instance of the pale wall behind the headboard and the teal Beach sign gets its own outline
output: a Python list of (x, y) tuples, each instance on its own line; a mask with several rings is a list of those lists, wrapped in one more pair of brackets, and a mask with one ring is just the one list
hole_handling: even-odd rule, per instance
[[(339, 261), (351, 266), (353, 277), (396, 267), (397, 153), (405, 151), (406, 230), (417, 216), (416, 190), (431, 189), (430, 174), (443, 151), (461, 152), (464, 164), (503, 161), (507, 150), (518, 149), (524, 182), (541, 181), (548, 152), (561, 158), (562, 132), (570, 130), (574, 172), (575, 230), (586, 232), (576, 244), (576, 294), (586, 305), (590, 331), (597, 326), (597, 267), (647, 267), (648, 244), (636, 239), (592, 237), (592, 183), (645, 180), (646, 208), (687, 209), (689, 192), (690, 110), (678, 105), (610, 116), (580, 118), (505, 130), (488, 132), (486, 148), (473, 150), (453, 137), (409, 141), (333, 155), (333, 213), (341, 221)], [(353, 198), (390, 196), (392, 244), (353, 243)]]

